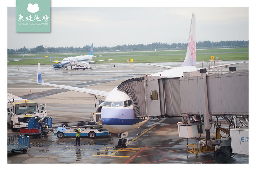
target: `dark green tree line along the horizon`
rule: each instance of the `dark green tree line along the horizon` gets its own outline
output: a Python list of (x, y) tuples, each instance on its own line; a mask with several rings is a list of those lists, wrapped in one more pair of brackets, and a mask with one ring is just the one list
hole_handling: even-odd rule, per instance
[[(173, 50), (173, 49), (186, 49), (188, 43), (150, 43), (147, 45), (144, 44), (124, 44), (124, 45), (117, 45), (114, 47), (108, 46), (100, 46), (94, 47), (94, 52), (113, 52), (116, 50), (120, 51), (151, 51), (151, 50)], [(249, 41), (199, 41), (196, 42), (196, 48), (237, 48), (237, 47), (249, 47)], [(29, 54), (29, 53), (44, 53), (44, 52), (51, 52), (51, 53), (85, 53), (90, 51), (91, 46), (86, 45), (83, 47), (44, 47), (43, 45), (34, 47), (34, 48), (26, 48), (25, 46), (20, 49), (7, 49), (8, 54)]]

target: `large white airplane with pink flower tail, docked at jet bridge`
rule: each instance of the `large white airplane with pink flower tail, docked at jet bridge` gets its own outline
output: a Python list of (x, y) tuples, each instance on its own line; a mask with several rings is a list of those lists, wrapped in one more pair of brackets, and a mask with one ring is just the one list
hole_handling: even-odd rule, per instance
[[(172, 67), (172, 69), (162, 71), (159, 73), (152, 74), (153, 76), (168, 76), (168, 77), (180, 77), (183, 76), (184, 72), (197, 71), (196, 65), (196, 41), (195, 41), (195, 14), (192, 14), (190, 34), (188, 41), (187, 54), (184, 62), (180, 67)], [(170, 67), (169, 67), (170, 68)], [(111, 133), (121, 134), (121, 138), (118, 141), (118, 146), (127, 146), (127, 140), (125, 137), (128, 136), (128, 131), (138, 128), (148, 120), (150, 117), (141, 119), (136, 117), (134, 112), (133, 104), (130, 97), (117, 89), (114, 88), (110, 92), (91, 90), (86, 88), (71, 87), (65, 85), (56, 85), (45, 83), (42, 81), (40, 63), (38, 63), (38, 74), (37, 83), (41, 85), (48, 85), (78, 92), (89, 93), (93, 96), (106, 97), (104, 103), (101, 103), (97, 108), (96, 112), (101, 110), (101, 121), (103, 127)], [(120, 137), (120, 136), (119, 136)]]

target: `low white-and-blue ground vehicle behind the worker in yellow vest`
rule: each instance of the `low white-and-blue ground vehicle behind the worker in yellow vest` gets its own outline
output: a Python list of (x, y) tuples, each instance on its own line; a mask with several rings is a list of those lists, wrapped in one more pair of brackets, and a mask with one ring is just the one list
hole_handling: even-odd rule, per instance
[[(54, 135), (57, 135), (58, 138), (63, 138), (63, 137), (68, 137), (68, 136), (76, 136), (76, 132), (75, 132), (76, 128), (71, 128), (71, 129), (67, 129), (67, 128), (61, 128), (61, 129), (55, 129), (53, 131)], [(99, 131), (97, 129), (83, 129), (81, 128), (81, 135), (80, 136), (88, 136), (91, 139), (94, 139), (96, 136), (102, 136), (102, 135), (108, 135), (109, 132), (108, 131)]]

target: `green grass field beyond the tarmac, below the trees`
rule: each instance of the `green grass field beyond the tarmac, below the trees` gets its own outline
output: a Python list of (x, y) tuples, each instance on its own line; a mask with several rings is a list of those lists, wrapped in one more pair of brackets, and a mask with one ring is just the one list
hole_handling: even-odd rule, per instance
[[(248, 60), (249, 53), (248, 48), (225, 48), (225, 49), (204, 49), (196, 50), (196, 61), (208, 61), (211, 56), (214, 58), (219, 57), (219, 60)], [(221, 54), (217, 54), (221, 53)], [(106, 55), (105, 55), (106, 54)], [(24, 59), (21, 61), (7, 62), (8, 65), (35, 65), (37, 63), (41, 64), (54, 64), (50, 62), (50, 57), (52, 60), (62, 61), (65, 57), (88, 55), (88, 53), (67, 53), (67, 54), (29, 54), (25, 55)], [(173, 50), (173, 51), (146, 51), (146, 52), (112, 52), (112, 53), (94, 53), (97, 55), (105, 55), (101, 57), (94, 58), (93, 60), (105, 60), (112, 59), (110, 63), (126, 63), (127, 60), (133, 59), (133, 63), (159, 63), (159, 62), (180, 62), (181, 58), (184, 61), (186, 50)], [(48, 57), (45, 57), (48, 56)], [(22, 55), (8, 55), (9, 58), (21, 58)], [(92, 61), (93, 61), (92, 60)], [(97, 62), (103, 63), (103, 62)], [(104, 63), (109, 63), (105, 61)], [(93, 63), (91, 63), (93, 64)]]

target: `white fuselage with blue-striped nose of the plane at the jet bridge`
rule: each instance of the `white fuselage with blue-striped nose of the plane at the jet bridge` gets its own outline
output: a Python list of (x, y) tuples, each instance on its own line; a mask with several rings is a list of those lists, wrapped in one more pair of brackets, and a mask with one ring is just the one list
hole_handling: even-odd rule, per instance
[[(183, 72), (191, 71), (197, 71), (197, 68), (195, 66), (177, 67), (151, 75), (180, 77), (183, 76)], [(101, 108), (101, 121), (105, 129), (112, 133), (122, 133), (138, 128), (150, 120), (150, 118), (137, 118), (130, 101), (130, 97), (117, 87), (108, 93)]]

